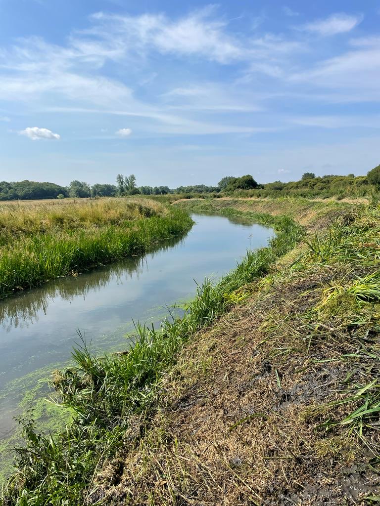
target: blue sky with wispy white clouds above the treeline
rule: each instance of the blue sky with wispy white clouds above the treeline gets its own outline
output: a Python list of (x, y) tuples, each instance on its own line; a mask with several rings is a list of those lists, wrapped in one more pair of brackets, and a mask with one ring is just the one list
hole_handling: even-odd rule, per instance
[(380, 163), (380, 2), (0, 0), (0, 180)]

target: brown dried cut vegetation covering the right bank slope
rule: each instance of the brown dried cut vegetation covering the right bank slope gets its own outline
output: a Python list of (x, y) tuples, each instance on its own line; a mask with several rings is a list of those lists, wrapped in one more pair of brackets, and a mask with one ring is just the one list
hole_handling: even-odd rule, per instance
[[(310, 266), (261, 280), (244, 306), (198, 334), (165, 377), (156, 414), (134, 421), (89, 503), (346, 505), (379, 490), (373, 447), (324, 425), (352, 412), (333, 403), (369, 364), (348, 356), (365, 348), (369, 326), (310, 318), (344, 272)], [(379, 443), (376, 431), (369, 438)]]

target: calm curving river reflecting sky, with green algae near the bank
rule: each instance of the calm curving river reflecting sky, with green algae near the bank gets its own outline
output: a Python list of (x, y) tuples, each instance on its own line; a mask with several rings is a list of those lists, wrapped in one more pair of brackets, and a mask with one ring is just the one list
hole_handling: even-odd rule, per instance
[[(240, 218), (193, 215), (183, 238), (77, 277), (0, 301), (0, 450), (14, 441), (14, 416), (49, 395), (44, 378), (70, 361), (80, 330), (91, 351), (123, 350), (132, 319), (159, 324), (194, 297), (196, 282), (220, 278), (273, 230)], [(183, 311), (183, 310), (182, 310)], [(44, 401), (45, 402), (45, 401)], [(41, 410), (41, 406), (40, 406)], [(41, 414), (41, 413), (40, 413)]]

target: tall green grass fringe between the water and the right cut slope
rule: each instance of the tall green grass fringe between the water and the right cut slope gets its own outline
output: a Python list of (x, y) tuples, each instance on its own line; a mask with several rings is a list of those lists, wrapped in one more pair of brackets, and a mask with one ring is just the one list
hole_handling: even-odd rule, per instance
[[(54, 386), (73, 423), (58, 435), (37, 434), (32, 419), (20, 420), (25, 446), (18, 448), (15, 475), (6, 484), (2, 506), (62, 506), (89, 499), (94, 477), (106, 459), (125, 444), (132, 415), (148, 414), (160, 396), (160, 377), (197, 330), (229, 310), (233, 293), (268, 272), (270, 265), (300, 240), (303, 229), (288, 217), (261, 216), (277, 231), (268, 247), (248, 251), (230, 274), (198, 286), (183, 318), (163, 322), (160, 331), (136, 324), (137, 339), (126, 354), (96, 358), (83, 342), (73, 351), (75, 366), (56, 372)], [(136, 427), (139, 434), (144, 426)], [(96, 502), (95, 502), (96, 503)]]

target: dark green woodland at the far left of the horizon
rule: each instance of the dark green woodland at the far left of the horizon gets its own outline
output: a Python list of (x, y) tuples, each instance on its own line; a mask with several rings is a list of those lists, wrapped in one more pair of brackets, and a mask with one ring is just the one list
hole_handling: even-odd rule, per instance
[(37, 200), (57, 198), (58, 195), (68, 197), (68, 189), (54, 183), (36, 181), (0, 182), (0, 200)]

